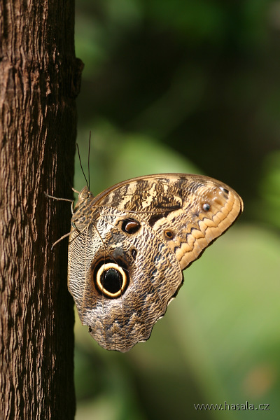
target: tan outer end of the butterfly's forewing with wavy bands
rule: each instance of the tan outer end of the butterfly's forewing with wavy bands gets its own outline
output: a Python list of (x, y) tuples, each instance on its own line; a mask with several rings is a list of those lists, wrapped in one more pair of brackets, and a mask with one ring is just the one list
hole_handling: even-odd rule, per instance
[[(170, 212), (162, 223), (165, 240), (186, 269), (207, 246), (223, 235), (243, 209), (235, 190), (205, 177), (204, 183), (186, 190), (183, 207)], [(155, 226), (157, 228), (157, 226)]]

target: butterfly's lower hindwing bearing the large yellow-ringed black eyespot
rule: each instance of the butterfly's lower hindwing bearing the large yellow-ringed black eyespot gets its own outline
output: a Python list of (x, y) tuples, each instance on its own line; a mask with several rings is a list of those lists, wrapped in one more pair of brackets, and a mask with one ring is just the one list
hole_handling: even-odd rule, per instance
[[(91, 260), (91, 250), (84, 253), (85, 284), (76, 303), (90, 335), (105, 349), (125, 352), (150, 337), (183, 276), (174, 252), (147, 223), (123, 218), (123, 212), (113, 208), (104, 209), (97, 228), (102, 223), (99, 248)], [(73, 292), (71, 282), (69, 286)]]

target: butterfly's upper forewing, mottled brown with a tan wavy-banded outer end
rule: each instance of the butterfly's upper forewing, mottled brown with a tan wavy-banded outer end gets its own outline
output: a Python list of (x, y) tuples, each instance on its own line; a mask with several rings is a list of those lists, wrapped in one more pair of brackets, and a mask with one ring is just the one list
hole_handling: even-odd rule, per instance
[(158, 174), (117, 184), (96, 197), (98, 205), (134, 212), (176, 254), (181, 269), (230, 228), (243, 210), (241, 197), (208, 176)]

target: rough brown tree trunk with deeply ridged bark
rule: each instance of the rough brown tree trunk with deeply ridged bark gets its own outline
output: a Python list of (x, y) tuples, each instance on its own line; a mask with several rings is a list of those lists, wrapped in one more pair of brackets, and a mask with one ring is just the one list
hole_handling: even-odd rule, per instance
[(74, 0), (0, 0), (0, 419), (73, 419)]

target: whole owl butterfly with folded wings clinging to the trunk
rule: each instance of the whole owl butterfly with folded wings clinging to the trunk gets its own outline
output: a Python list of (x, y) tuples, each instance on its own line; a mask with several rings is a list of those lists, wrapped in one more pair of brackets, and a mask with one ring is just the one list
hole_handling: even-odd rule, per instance
[(183, 283), (182, 270), (234, 223), (241, 197), (207, 176), (158, 174), (78, 195), (68, 287), (107, 350), (146, 341)]

